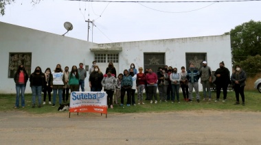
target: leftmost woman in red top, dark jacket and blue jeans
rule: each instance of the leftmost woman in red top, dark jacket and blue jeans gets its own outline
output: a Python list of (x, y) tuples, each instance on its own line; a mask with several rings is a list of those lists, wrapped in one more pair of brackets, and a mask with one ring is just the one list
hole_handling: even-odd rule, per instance
[(14, 109), (19, 108), (19, 98), (21, 92), (21, 106), (25, 107), (25, 87), (28, 81), (28, 74), (25, 70), (25, 66), (23, 64), (18, 66), (16, 73), (14, 74), (14, 82), (15, 82), (15, 89), (16, 89), (16, 101)]

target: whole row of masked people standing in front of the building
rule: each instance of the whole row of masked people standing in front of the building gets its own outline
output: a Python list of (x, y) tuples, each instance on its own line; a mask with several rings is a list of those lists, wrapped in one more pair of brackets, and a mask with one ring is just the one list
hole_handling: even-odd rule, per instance
[[(113, 109), (113, 95), (114, 104), (124, 105), (124, 96), (127, 94), (126, 106), (136, 105), (135, 91), (137, 90), (137, 104), (144, 104), (143, 92), (146, 91), (146, 100), (150, 103), (157, 103), (157, 89), (159, 90), (159, 101), (174, 103), (180, 103), (179, 89), (181, 88), (184, 101), (192, 102), (193, 89), (196, 92), (196, 101), (200, 102), (200, 95), (198, 92), (198, 80), (201, 78), (201, 84), (203, 86), (203, 101), (211, 101), (212, 92), (210, 86), (212, 83), (216, 85), (216, 100), (219, 101), (220, 90), (223, 89), (223, 102), (227, 98), (227, 87), (229, 83), (232, 83), (236, 92), (236, 103), (240, 104), (239, 94), (242, 97), (242, 105), (245, 105), (245, 80), (246, 73), (239, 65), (236, 65), (234, 72), (230, 77), (230, 72), (225, 68), (224, 62), (220, 62), (214, 75), (207, 62), (203, 61), (202, 68), (195, 68), (194, 64), (190, 64), (189, 70), (185, 70), (185, 67), (181, 67), (181, 72), (178, 72), (177, 68), (171, 66), (159, 67), (157, 72), (153, 72), (152, 68), (146, 68), (145, 71), (142, 67), (138, 70), (135, 68), (135, 64), (131, 64), (129, 69), (125, 69), (123, 74), (116, 74), (116, 69), (113, 66), (113, 62), (110, 62), (106, 68), (106, 72), (103, 74), (96, 62), (93, 61), (93, 65), (89, 69), (89, 87), (91, 92), (101, 92), (102, 88), (107, 94), (107, 105)], [(87, 71), (84, 70), (83, 64), (72, 66), (71, 71), (66, 66), (65, 70), (61, 68), (60, 64), (56, 65), (56, 68), (52, 72), (50, 68), (47, 68), (45, 72), (42, 72), (41, 67), (37, 66), (29, 75), (25, 71), (24, 66), (21, 64), (14, 75), (14, 81), (16, 83), (16, 104), (14, 108), (19, 107), (19, 96), (21, 92), (21, 107), (25, 107), (25, 86), (27, 80), (30, 80), (30, 87), (32, 88), (32, 107), (36, 107), (36, 96), (38, 96), (38, 107), (42, 106), (41, 92), (43, 92), (43, 105), (45, 105), (46, 96), (48, 94), (49, 104), (52, 107), (56, 106), (56, 95), (58, 91), (59, 101), (61, 105), (62, 100), (67, 103), (69, 98), (69, 90), (71, 92), (78, 92), (80, 88), (84, 92), (84, 79), (87, 77)], [(215, 78), (215, 79), (214, 79)], [(51, 101), (51, 92), (53, 91), (53, 100)], [(175, 99), (177, 98), (177, 99)], [(119, 101), (120, 100), (120, 101)]]

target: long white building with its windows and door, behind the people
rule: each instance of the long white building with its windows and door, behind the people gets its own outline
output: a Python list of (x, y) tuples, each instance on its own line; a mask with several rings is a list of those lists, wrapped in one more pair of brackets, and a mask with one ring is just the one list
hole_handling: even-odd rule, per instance
[[(15, 84), (12, 74), (17, 65), (23, 63), (28, 72), (34, 72), (36, 66), (42, 70), (56, 64), (62, 68), (78, 66), (80, 62), (85, 68), (97, 61), (102, 72), (109, 62), (113, 62), (117, 74), (135, 64), (135, 68), (153, 68), (172, 66), (181, 71), (181, 66), (189, 67), (193, 62), (199, 68), (206, 60), (212, 70), (219, 67), (220, 62), (231, 71), (230, 36), (204, 36), (196, 38), (176, 38), (164, 40), (146, 40), (135, 42), (117, 42), (96, 44), (44, 31), (11, 25), (0, 22), (0, 94), (14, 94)], [(89, 73), (85, 80), (85, 89), (89, 91)], [(29, 82), (25, 92), (31, 93)], [(200, 90), (202, 90), (202, 86)]]

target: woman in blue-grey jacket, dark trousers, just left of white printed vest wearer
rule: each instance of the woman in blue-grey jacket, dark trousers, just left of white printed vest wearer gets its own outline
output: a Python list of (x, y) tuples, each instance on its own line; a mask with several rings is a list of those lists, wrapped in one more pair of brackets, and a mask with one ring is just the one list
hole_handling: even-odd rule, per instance
[(121, 88), (121, 106), (124, 105), (124, 96), (127, 92), (127, 106), (131, 106), (131, 88), (133, 87), (133, 78), (128, 74), (128, 70), (124, 70), (124, 76), (122, 78), (122, 88)]

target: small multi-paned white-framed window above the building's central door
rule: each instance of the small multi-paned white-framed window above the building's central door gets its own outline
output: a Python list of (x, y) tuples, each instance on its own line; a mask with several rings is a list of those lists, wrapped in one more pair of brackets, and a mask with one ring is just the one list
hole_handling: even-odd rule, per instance
[(98, 63), (118, 63), (119, 62), (119, 54), (110, 53), (110, 54), (95, 54), (95, 61)]

